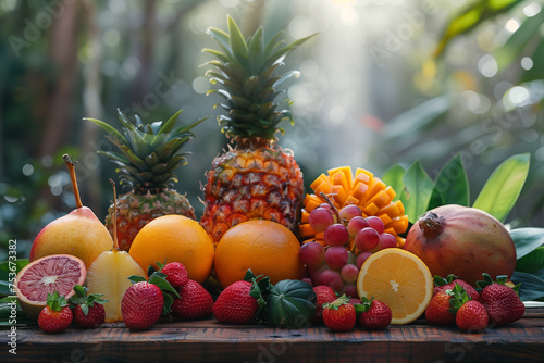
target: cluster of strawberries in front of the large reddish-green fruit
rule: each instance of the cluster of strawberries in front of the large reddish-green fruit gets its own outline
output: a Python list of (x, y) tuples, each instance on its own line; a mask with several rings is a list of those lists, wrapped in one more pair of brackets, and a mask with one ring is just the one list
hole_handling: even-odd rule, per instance
[(434, 296), (426, 308), (425, 318), (433, 325), (457, 325), (469, 333), (482, 333), (489, 325), (506, 325), (521, 318), (526, 306), (507, 276), (494, 281), (489, 274), (477, 283), (480, 292), (470, 284), (436, 276)]

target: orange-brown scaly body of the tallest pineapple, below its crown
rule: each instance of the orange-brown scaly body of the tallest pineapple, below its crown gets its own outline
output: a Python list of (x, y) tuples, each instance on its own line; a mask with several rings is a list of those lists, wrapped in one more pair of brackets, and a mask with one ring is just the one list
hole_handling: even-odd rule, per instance
[(302, 172), (280, 147), (232, 149), (206, 173), (201, 226), (217, 246), (232, 226), (254, 218), (283, 224), (297, 235), (305, 196)]

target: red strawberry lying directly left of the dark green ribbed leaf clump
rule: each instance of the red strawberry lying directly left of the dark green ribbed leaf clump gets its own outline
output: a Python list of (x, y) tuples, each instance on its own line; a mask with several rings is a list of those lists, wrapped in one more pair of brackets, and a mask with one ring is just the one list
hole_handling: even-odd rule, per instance
[(239, 280), (231, 284), (215, 300), (213, 315), (221, 323), (251, 323), (263, 304), (255, 297), (258, 290), (256, 283)]

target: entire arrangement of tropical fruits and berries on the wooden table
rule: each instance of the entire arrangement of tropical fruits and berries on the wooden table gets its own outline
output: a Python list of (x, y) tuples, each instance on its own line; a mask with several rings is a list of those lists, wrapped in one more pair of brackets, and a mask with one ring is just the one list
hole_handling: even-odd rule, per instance
[(276, 74), (283, 58), (310, 37), (264, 42), (260, 28), (245, 39), (227, 23), (228, 33), (209, 30), (221, 50), (205, 51), (215, 58), (207, 76), (225, 98), (219, 122), (232, 146), (207, 172), (200, 221), (172, 184), (186, 163), (182, 148), (205, 118), (175, 128), (181, 111), (149, 125), (119, 113), (121, 129), (89, 118), (119, 148), (102, 153), (131, 191), (118, 199), (111, 180), (114, 201), (102, 224), (83, 206), (64, 155), (76, 209), (36, 237), (14, 285), (23, 312), (46, 333), (73, 320), (82, 328), (123, 321), (145, 330), (164, 315), (332, 331), (423, 316), (484, 331), (519, 320), (516, 246), (493, 215), (441, 192), (418, 202), (424, 213), (411, 213), (419, 197), (407, 196), (410, 185), (395, 190), (349, 166), (323, 173), (305, 195), (293, 153), (277, 143), (279, 124), (293, 118), (275, 99), (297, 75)]

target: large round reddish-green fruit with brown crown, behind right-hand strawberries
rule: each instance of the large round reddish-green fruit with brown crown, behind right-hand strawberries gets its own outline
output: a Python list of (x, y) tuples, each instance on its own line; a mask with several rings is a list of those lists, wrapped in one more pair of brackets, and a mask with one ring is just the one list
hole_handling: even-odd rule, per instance
[(511, 276), (516, 247), (491, 214), (461, 205), (435, 208), (408, 231), (404, 249), (418, 255), (433, 275), (455, 274), (475, 286), (482, 273)]

